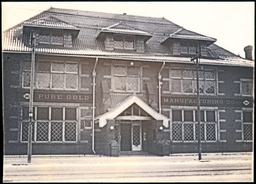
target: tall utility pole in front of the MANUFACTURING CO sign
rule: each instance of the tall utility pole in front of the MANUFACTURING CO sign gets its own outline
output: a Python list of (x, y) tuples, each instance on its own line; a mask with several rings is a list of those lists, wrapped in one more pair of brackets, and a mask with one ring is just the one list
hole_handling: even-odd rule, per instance
[(201, 44), (199, 42), (199, 52), (196, 48), (196, 54), (197, 56), (195, 58), (192, 58), (190, 61), (197, 61), (197, 128), (198, 128), (198, 160), (202, 160), (202, 148), (201, 148), (201, 126), (200, 126), (200, 95), (199, 95), (199, 58), (201, 58)]

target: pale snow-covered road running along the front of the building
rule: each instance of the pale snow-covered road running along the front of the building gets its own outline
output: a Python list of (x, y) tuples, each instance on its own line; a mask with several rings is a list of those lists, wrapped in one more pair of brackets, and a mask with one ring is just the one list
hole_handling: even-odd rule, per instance
[(17, 182), (252, 181), (252, 155), (4, 159), (3, 180)]

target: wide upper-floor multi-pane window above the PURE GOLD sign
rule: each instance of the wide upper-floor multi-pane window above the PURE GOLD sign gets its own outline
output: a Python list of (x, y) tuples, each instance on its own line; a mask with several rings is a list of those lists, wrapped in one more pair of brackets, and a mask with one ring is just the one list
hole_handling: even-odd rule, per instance
[[(30, 87), (31, 62), (24, 62), (23, 87)], [(78, 89), (76, 62), (40, 61), (35, 65), (34, 86), (38, 89)]]

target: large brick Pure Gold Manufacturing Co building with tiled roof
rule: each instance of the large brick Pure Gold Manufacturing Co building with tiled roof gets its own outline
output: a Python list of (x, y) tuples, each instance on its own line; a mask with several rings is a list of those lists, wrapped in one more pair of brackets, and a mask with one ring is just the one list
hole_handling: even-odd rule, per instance
[(252, 151), (251, 46), (244, 59), (165, 18), (50, 8), (2, 37), (5, 154), (27, 151), (32, 30), (34, 154), (196, 151), (197, 50), (202, 151)]

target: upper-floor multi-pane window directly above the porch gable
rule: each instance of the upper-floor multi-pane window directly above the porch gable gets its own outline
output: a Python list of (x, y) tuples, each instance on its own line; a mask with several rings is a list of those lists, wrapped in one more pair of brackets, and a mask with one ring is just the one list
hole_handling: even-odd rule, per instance
[(139, 66), (113, 65), (112, 78), (114, 91), (139, 91)]

